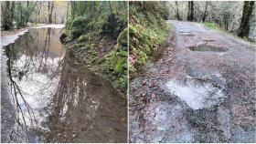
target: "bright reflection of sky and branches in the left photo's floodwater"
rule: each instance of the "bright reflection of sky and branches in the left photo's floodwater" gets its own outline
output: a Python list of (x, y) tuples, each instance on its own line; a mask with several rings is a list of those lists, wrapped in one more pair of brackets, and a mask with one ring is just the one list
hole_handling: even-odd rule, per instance
[(5, 46), (10, 91), (17, 107), (17, 122), (37, 126), (42, 108), (55, 91), (59, 64), (65, 51), (59, 43), (61, 29), (31, 29), (14, 44)]

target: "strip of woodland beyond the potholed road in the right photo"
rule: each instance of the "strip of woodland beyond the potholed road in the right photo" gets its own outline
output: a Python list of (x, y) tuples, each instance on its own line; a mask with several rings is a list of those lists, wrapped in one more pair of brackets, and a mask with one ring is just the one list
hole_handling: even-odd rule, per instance
[(170, 19), (205, 23), (206, 26), (249, 37), (256, 29), (255, 2), (170, 2)]

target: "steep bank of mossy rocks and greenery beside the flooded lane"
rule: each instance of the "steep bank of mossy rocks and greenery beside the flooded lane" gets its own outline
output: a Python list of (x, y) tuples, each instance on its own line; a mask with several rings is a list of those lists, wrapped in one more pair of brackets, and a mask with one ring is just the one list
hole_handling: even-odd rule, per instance
[(76, 57), (127, 90), (127, 3), (71, 2), (71, 16), (60, 37)]

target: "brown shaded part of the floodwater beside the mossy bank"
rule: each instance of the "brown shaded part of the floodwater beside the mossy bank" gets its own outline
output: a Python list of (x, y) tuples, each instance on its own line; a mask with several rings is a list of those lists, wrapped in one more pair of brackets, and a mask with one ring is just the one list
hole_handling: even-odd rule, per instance
[[(126, 142), (125, 100), (66, 53), (44, 123), (47, 142)], [(124, 102), (125, 103), (125, 102)]]

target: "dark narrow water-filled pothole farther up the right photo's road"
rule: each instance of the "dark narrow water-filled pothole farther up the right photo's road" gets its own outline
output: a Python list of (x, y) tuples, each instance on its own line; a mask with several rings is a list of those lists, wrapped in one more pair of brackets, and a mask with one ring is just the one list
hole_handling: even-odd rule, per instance
[(192, 51), (214, 51), (214, 52), (225, 52), (228, 49), (220, 46), (211, 46), (208, 44), (202, 44), (197, 46), (188, 46), (188, 48)]

